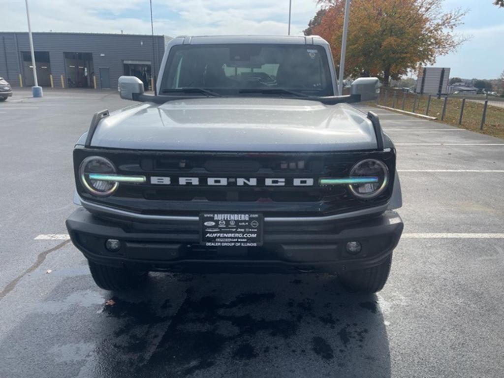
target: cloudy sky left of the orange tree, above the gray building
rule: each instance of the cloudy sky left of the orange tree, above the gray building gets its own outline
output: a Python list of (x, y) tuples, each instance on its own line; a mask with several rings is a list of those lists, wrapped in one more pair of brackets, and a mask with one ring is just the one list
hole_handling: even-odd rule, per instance
[[(31, 0), (34, 31), (150, 33), (146, 0)], [(256, 2), (221, 0), (154, 0), (155, 33), (286, 34), (287, 0)], [(22, 2), (0, 0), (5, 31), (25, 31)], [(316, 12), (315, 0), (293, 0), (292, 34), (301, 34)], [(169, 14), (169, 17), (166, 15)]]

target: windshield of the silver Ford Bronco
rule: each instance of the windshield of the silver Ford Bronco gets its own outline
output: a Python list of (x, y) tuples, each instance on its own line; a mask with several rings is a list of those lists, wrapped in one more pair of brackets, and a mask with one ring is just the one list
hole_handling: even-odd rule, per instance
[(314, 45), (174, 46), (168, 56), (161, 93), (187, 88), (221, 95), (333, 95), (326, 51)]

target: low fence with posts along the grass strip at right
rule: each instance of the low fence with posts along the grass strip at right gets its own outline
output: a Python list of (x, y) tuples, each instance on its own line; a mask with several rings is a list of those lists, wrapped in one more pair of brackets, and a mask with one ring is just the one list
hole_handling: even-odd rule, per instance
[[(421, 95), (401, 90), (382, 90), (376, 103), (416, 114), (434, 116), (451, 124), (464, 125), (468, 129), (492, 128), (504, 135), (504, 101), (488, 97)], [(493, 133), (490, 133), (493, 134)]]

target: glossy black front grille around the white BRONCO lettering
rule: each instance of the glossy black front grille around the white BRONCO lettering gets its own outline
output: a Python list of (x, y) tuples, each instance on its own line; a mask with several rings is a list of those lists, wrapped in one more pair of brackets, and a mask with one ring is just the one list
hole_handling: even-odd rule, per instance
[[(77, 148), (75, 166), (90, 155), (109, 158), (120, 174), (145, 175), (144, 184), (121, 183), (108, 198), (87, 194), (87, 200), (123, 210), (152, 215), (198, 215), (202, 211), (257, 211), (268, 216), (317, 216), (354, 211), (388, 201), (391, 183), (379, 198), (358, 200), (345, 185), (319, 186), (322, 177), (347, 177), (358, 161), (375, 158), (395, 171), (394, 151), (272, 154), (175, 153)], [(170, 177), (169, 185), (151, 184), (150, 177)], [(197, 177), (198, 185), (179, 185), (180, 177)], [(207, 179), (228, 178), (225, 186), (208, 185)], [(284, 186), (266, 186), (267, 178), (285, 178)], [(238, 186), (237, 178), (257, 179), (257, 185)], [(313, 179), (313, 186), (293, 186), (293, 179)]]

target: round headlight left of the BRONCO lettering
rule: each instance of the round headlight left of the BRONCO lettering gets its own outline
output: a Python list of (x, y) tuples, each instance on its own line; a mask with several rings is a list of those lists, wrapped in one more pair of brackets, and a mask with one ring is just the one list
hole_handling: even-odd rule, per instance
[(93, 174), (115, 174), (117, 171), (108, 159), (101, 156), (89, 156), (79, 167), (79, 177), (82, 185), (94, 196), (106, 197), (112, 195), (119, 186), (117, 181), (93, 179)]

